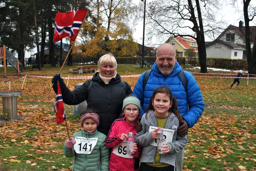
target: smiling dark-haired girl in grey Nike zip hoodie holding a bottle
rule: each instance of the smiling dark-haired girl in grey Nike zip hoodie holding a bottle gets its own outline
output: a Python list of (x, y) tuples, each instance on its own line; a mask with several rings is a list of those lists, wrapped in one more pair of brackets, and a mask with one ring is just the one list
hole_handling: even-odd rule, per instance
[[(169, 108), (171, 113), (168, 112)], [(186, 136), (180, 137), (177, 128), (181, 124), (177, 101), (167, 87), (158, 87), (150, 97), (147, 113), (141, 118), (142, 130), (135, 135), (135, 142), (143, 146), (142, 171), (172, 171), (175, 167), (175, 153), (186, 146)], [(157, 131), (162, 128), (166, 145), (160, 154), (157, 150)]]

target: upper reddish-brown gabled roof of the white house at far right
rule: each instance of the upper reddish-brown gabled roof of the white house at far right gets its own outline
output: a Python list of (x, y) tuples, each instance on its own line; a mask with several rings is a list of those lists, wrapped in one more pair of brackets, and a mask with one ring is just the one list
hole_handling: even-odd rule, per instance
[[(229, 25), (216, 39), (220, 39), (228, 30), (233, 30), (245, 42), (245, 27), (239, 29), (237, 26)], [(250, 26), (251, 41), (254, 41), (256, 35), (256, 26)]]

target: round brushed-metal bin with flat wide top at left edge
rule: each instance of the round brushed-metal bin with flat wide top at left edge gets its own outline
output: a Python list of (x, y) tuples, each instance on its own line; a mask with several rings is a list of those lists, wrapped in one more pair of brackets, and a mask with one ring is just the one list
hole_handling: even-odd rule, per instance
[[(18, 109), (17, 109), (17, 96), (21, 95), (22, 91), (1, 91), (0, 96), (2, 96), (3, 103), (3, 113), (9, 113), (11, 119), (18, 118)], [(7, 119), (7, 118), (5, 118)]]

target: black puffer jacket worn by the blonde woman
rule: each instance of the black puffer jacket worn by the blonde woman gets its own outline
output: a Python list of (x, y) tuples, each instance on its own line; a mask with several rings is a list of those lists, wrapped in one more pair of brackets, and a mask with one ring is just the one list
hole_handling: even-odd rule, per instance
[[(87, 89), (94, 81), (90, 93), (88, 95)], [(88, 108), (93, 108), (98, 111), (100, 117), (100, 125), (97, 130), (105, 135), (108, 134), (109, 129), (115, 119), (122, 113), (123, 100), (125, 96), (132, 93), (131, 87), (126, 84), (126, 91), (121, 83), (121, 77), (117, 74), (112, 78), (109, 84), (105, 84), (99, 77), (99, 72), (93, 75), (92, 80), (87, 80), (84, 84), (74, 91), (70, 91), (65, 83), (61, 83), (61, 93), (63, 102), (67, 105), (78, 105), (84, 100), (88, 101)], [(57, 93), (57, 84), (53, 85), (55, 93)]]

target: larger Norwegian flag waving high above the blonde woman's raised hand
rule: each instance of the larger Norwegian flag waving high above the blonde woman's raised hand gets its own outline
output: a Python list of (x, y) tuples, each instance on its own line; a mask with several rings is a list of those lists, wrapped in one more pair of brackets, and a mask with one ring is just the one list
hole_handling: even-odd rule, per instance
[(58, 11), (55, 17), (55, 33), (52, 41), (57, 42), (67, 36), (74, 41), (87, 12), (88, 9), (78, 9), (68, 13)]

